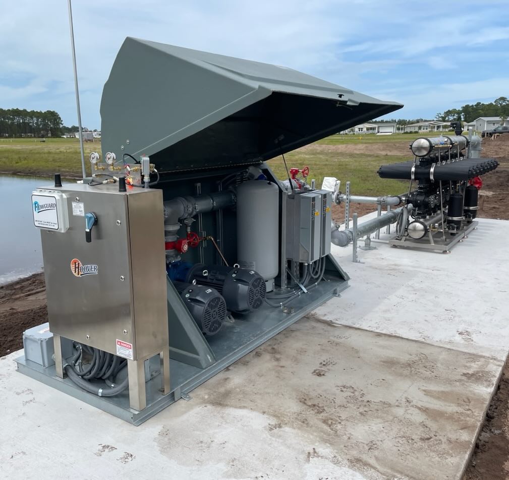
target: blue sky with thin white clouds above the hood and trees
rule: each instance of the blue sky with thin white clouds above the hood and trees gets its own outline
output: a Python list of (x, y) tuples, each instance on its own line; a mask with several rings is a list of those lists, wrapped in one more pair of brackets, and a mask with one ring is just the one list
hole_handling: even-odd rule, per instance
[[(0, 107), (76, 125), (67, 2), (2, 0)], [(509, 97), (509, 2), (74, 0), (83, 126), (127, 36), (284, 65), (433, 118)]]

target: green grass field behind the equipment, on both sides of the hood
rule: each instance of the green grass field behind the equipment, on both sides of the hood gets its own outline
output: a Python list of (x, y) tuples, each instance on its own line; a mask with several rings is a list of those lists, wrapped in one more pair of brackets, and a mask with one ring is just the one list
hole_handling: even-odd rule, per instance
[[(398, 194), (404, 190), (400, 181), (382, 180), (377, 175), (380, 165), (411, 158), (408, 144), (416, 135), (333, 135), (285, 156), (289, 168), (309, 166), (309, 177), (320, 186), (324, 176), (342, 181), (342, 189), (351, 182), (357, 195)], [(88, 156), (101, 152), (101, 142), (84, 144), (87, 173)], [(281, 157), (269, 161), (279, 178), (286, 178)], [(0, 139), (0, 172), (51, 176), (60, 172), (66, 178), (81, 178), (79, 141), (74, 138)], [(406, 185), (406, 183), (405, 183)]]

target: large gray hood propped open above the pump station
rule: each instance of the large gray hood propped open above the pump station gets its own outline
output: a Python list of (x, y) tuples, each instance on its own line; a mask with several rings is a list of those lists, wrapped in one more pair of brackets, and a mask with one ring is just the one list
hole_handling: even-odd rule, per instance
[(145, 154), (160, 172), (253, 164), (402, 106), (289, 68), (128, 37), (102, 93), (103, 158)]

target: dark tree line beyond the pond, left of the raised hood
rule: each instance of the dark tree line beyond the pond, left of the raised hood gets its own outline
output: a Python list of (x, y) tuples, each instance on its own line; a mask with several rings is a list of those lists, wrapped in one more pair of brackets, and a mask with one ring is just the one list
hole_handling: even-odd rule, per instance
[[(78, 127), (66, 127), (54, 110), (26, 110), (0, 108), (0, 138), (4, 137), (60, 137), (74, 133)], [(87, 128), (83, 128), (87, 132)]]

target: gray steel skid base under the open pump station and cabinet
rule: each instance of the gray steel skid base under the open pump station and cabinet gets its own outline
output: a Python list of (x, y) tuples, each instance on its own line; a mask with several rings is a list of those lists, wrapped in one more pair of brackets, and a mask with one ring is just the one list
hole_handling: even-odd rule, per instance
[[(348, 276), (346, 278), (348, 279)], [(308, 293), (296, 298), (284, 309), (264, 305), (259, 310), (246, 315), (245, 318), (239, 315), (234, 321), (225, 323), (221, 332), (207, 339), (216, 361), (209, 367), (202, 369), (171, 358), (169, 362), (170, 393), (167, 395), (161, 393), (160, 375), (152, 378), (146, 384), (147, 407), (141, 411), (129, 407), (128, 391), (116, 397), (98, 397), (85, 392), (69, 378), (60, 378), (54, 365), (44, 368), (34, 362), (27, 361), (24, 356), (21, 356), (16, 358), (17, 369), (20, 373), (52, 386), (78, 400), (87, 402), (133, 425), (140, 425), (177, 400), (181, 398), (188, 400), (188, 394), (193, 388), (233, 364), (333, 296), (337, 296), (347, 287), (347, 280), (326, 275), (324, 281), (309, 290)]]

